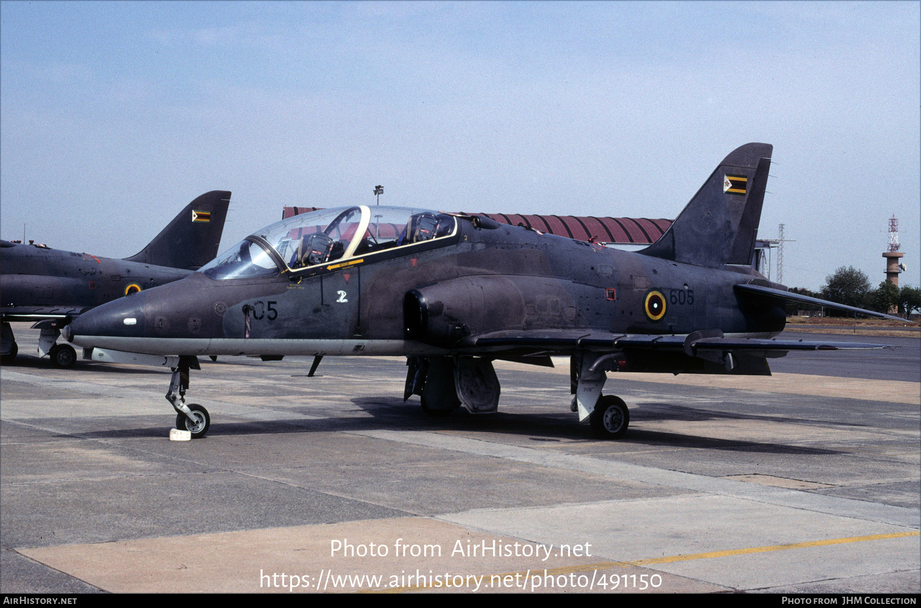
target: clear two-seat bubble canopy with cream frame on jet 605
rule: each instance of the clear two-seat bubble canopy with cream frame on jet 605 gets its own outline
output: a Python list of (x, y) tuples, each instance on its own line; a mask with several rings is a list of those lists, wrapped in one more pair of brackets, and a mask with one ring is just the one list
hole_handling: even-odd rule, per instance
[(204, 265), (218, 280), (297, 275), (336, 260), (456, 234), (454, 217), (409, 207), (355, 205), (302, 213), (262, 228)]

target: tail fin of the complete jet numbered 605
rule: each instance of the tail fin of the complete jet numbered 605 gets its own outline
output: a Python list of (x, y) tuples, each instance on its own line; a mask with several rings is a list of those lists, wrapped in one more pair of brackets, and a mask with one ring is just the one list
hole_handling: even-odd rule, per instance
[(697, 266), (750, 264), (773, 150), (746, 143), (730, 152), (665, 234), (639, 253)]

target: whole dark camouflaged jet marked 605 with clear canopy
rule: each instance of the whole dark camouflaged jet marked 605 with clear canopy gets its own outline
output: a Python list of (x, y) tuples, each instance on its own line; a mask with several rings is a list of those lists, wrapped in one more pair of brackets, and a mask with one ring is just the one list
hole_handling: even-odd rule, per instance
[[(728, 155), (664, 235), (609, 249), (484, 216), (355, 205), (272, 224), (191, 276), (99, 306), (64, 338), (102, 361), (167, 365), (177, 426), (201, 355), (404, 355), (404, 399), (433, 416), (495, 412), (492, 361), (570, 357), (571, 407), (604, 438), (630, 414), (607, 372), (770, 374), (789, 350), (882, 348), (779, 340), (788, 293), (752, 269), (772, 147)], [(898, 317), (892, 317), (898, 318)], [(902, 320), (902, 319), (899, 319)], [(131, 354), (141, 353), (141, 354)], [(158, 355), (158, 356), (155, 356)]]

